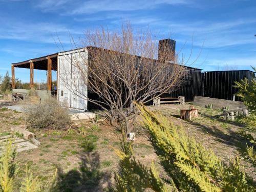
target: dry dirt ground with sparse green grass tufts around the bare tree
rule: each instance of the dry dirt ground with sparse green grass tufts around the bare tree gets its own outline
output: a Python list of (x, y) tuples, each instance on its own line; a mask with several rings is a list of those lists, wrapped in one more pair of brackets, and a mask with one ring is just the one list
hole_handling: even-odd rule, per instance
[[(180, 109), (188, 109), (188, 103), (149, 108), (176, 125), (181, 125), (189, 136), (214, 151), (226, 163), (238, 155), (246, 143), (246, 139), (237, 134), (244, 128), (236, 122), (224, 120), (221, 110), (196, 106), (199, 117), (184, 121), (179, 118)], [(138, 161), (149, 166), (152, 161), (158, 162), (158, 158), (139, 122), (140, 118), (135, 126), (134, 152)], [(97, 124), (91, 121), (75, 123), (78, 127), (84, 127), (84, 135), (75, 130), (32, 130), (41, 145), (18, 154), (21, 168), (19, 179), (15, 181), (17, 187), (28, 165), (33, 174), (45, 184), (51, 181), (57, 168), (57, 186), (60, 191), (108, 191), (107, 188), (114, 183), (114, 173), (118, 171), (118, 157), (112, 147), (119, 147), (121, 133), (104, 121)], [(0, 133), (10, 132), (11, 126), (23, 125), (22, 113), (0, 109)], [(244, 160), (242, 165), (245, 172), (255, 180), (255, 169)], [(161, 166), (157, 166), (161, 170)]]

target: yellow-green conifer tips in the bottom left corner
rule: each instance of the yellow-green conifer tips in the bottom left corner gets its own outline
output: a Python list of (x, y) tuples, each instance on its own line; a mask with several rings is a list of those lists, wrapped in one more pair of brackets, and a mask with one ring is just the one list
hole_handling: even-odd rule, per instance
[[(18, 172), (18, 163), (15, 161), (16, 152), (12, 150), (12, 142), (8, 141), (5, 149), (0, 151), (0, 191), (12, 192), (14, 191), (14, 180)], [(33, 177), (30, 169), (27, 168), (26, 178), (22, 182), (19, 191), (22, 192), (42, 192), (54, 191), (54, 183), (56, 180), (57, 170), (53, 176), (52, 183), (48, 186), (42, 186), (37, 177)]]

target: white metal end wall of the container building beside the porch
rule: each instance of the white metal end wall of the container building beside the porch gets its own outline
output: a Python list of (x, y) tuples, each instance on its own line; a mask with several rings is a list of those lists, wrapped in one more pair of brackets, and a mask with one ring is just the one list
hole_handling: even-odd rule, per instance
[[(88, 51), (86, 49), (58, 53), (58, 88), (57, 98), (62, 106), (79, 111), (87, 108), (87, 86), (81, 74), (87, 74)], [(80, 73), (77, 67), (84, 73)]]

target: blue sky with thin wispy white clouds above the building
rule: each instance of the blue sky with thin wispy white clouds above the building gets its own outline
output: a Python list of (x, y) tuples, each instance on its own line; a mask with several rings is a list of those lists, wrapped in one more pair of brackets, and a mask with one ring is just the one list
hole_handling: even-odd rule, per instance
[[(204, 71), (256, 66), (256, 1), (0, 0), (0, 75), (13, 62), (58, 52), (57, 35), (69, 50), (70, 34), (78, 39), (100, 26), (120, 29), (122, 22), (175, 39), (185, 58), (193, 42), (188, 64), (202, 51), (193, 67)], [(15, 76), (29, 81), (29, 70)], [(34, 78), (46, 81), (46, 72), (35, 70)]]

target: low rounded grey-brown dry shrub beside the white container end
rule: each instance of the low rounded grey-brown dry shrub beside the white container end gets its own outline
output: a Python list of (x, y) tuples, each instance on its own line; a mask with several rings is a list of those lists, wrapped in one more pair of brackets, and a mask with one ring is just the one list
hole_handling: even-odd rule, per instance
[(24, 111), (28, 128), (66, 130), (71, 126), (69, 110), (59, 106), (54, 98), (25, 106)]

